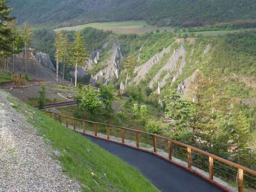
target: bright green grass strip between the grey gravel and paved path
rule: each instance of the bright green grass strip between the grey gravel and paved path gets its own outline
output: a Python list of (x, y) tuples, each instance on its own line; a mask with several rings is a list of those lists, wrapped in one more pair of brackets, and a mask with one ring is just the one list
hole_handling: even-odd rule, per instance
[(46, 141), (50, 140), (53, 149), (61, 152), (58, 160), (62, 169), (82, 184), (83, 191), (158, 191), (139, 171), (85, 137), (18, 99), (10, 97), (9, 100), (19, 112), (28, 116), (38, 134)]

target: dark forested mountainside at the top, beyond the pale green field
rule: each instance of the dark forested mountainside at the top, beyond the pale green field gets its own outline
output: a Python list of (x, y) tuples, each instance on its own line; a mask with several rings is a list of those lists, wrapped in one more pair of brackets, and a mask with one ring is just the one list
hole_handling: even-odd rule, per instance
[(255, 1), (244, 0), (21, 0), (11, 1), (10, 5), (18, 23), (28, 21), (33, 26), (126, 20), (144, 20), (160, 26), (201, 26), (256, 18)]

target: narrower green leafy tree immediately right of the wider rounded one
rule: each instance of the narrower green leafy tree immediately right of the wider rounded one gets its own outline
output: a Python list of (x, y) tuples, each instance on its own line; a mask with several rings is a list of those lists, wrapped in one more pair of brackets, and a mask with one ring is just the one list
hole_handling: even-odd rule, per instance
[(114, 85), (107, 85), (107, 86), (101, 85), (100, 87), (99, 97), (107, 110), (112, 109), (111, 105), (115, 99), (114, 91), (115, 91)]

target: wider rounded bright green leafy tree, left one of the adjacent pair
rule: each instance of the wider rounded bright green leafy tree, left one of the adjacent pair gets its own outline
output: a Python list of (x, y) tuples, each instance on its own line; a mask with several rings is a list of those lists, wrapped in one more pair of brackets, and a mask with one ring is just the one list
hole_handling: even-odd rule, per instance
[(91, 113), (99, 109), (101, 106), (99, 101), (99, 93), (96, 92), (91, 85), (80, 90), (76, 102), (79, 110), (86, 110)]

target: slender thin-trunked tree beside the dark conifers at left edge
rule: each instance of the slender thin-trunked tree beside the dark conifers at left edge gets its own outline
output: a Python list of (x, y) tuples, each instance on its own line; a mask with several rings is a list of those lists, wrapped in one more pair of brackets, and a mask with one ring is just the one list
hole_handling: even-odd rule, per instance
[(24, 41), (24, 51), (25, 51), (25, 71), (27, 73), (27, 47), (31, 45), (32, 38), (32, 28), (29, 27), (27, 22), (24, 22), (22, 25), (22, 37)]

